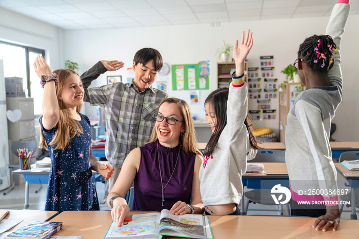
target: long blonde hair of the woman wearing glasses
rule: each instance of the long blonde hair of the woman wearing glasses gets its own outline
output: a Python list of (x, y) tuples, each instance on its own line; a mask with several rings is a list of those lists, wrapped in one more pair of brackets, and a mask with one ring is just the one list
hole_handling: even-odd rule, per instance
[[(161, 102), (161, 104), (159, 104), (158, 110), (163, 103), (176, 104), (178, 106), (179, 111), (181, 111), (184, 121), (182, 123), (185, 125), (185, 132), (184, 132), (185, 135), (183, 136), (182, 134), (179, 135), (179, 144), (181, 145), (183, 151), (187, 154), (195, 153), (202, 155), (201, 151), (198, 150), (196, 135), (194, 132), (194, 126), (192, 122), (192, 114), (188, 104), (183, 99), (166, 98)], [(157, 133), (156, 133), (156, 127), (154, 126), (152, 129), (150, 141), (148, 143), (155, 142), (156, 140), (157, 140)]]

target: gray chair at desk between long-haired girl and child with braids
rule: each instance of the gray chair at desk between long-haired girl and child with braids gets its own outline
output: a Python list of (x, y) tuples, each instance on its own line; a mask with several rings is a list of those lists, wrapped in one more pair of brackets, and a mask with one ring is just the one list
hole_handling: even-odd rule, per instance
[[(267, 162), (285, 162), (285, 151), (278, 149), (259, 149), (257, 154), (251, 161), (247, 163), (267, 163)], [(271, 196), (271, 189), (253, 189), (247, 191), (244, 195), (248, 198), (245, 206), (245, 213), (247, 214), (248, 206), (250, 203), (259, 203), (263, 205), (274, 205), (276, 206)], [(290, 215), (289, 204), (286, 204), (287, 213)], [(283, 205), (279, 205), (278, 215), (283, 215)]]

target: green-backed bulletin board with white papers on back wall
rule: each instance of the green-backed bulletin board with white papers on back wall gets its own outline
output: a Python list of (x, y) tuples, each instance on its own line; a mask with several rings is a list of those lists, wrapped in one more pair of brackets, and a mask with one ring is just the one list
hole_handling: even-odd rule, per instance
[(209, 77), (199, 64), (172, 65), (172, 90), (209, 90)]

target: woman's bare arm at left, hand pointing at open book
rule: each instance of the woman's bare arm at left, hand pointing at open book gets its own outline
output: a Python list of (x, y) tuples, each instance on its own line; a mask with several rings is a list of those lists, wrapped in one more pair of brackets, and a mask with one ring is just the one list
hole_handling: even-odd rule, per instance
[(113, 208), (111, 208), (112, 220), (117, 223), (117, 227), (120, 227), (126, 216), (130, 214), (130, 207), (126, 203), (125, 196), (134, 181), (140, 160), (141, 149), (135, 148), (127, 155), (116, 183), (113, 185), (111, 192), (107, 196), (106, 201), (110, 208), (110, 199), (117, 196), (112, 201)]

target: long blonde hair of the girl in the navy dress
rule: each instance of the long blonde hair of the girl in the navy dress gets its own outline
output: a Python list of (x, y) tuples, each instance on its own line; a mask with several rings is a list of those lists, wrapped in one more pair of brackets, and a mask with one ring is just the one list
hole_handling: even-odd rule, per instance
[[(57, 129), (52, 141), (50, 142), (50, 145), (54, 145), (55, 149), (65, 150), (65, 148), (69, 146), (69, 143), (74, 136), (79, 136), (80, 133), (84, 133), (84, 132), (81, 125), (76, 120), (69, 117), (69, 111), (65, 108), (62, 100), (58, 98), (58, 95), (61, 95), (61, 92), (65, 87), (65, 79), (69, 75), (72, 74), (78, 75), (78, 74), (76, 71), (73, 71), (71, 69), (57, 69), (53, 72), (58, 75), (56, 96), (57, 96), (60, 117), (58, 119), (57, 125), (55, 126)], [(43, 100), (45, 101), (46, 99)], [(76, 111), (79, 112), (80, 110), (81, 110), (81, 106), (77, 106)], [(44, 131), (42, 129), (40, 130), (41, 130), (40, 131), (41, 137), (38, 147), (48, 150)]]

